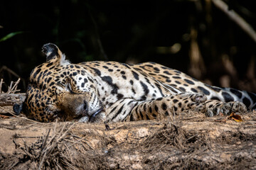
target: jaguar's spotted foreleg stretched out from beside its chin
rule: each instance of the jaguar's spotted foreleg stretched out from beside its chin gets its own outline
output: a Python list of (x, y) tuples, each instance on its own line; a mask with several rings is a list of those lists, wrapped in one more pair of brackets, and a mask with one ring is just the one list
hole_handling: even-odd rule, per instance
[(206, 96), (203, 94), (182, 93), (173, 96), (144, 101), (132, 109), (126, 121), (151, 120), (160, 116), (178, 114), (183, 111), (205, 112)]

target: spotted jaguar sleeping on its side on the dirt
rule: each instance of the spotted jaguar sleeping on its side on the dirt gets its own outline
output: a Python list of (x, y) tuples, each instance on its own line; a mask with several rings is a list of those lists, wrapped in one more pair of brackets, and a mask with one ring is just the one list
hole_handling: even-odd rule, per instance
[(41, 122), (151, 120), (197, 111), (228, 115), (256, 108), (256, 94), (203, 84), (176, 69), (145, 62), (72, 64), (54, 44), (31, 72), (26, 99), (15, 113)]

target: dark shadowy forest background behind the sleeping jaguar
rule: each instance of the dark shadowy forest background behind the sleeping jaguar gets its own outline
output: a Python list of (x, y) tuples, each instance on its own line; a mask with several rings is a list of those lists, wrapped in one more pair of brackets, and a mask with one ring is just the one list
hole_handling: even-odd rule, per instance
[[(225, 3), (256, 29), (255, 1)], [(73, 63), (158, 62), (256, 92), (256, 43), (210, 0), (1, 1), (0, 16), (3, 90), (21, 77), (25, 91), (31, 70), (46, 61), (41, 47), (53, 42)]]

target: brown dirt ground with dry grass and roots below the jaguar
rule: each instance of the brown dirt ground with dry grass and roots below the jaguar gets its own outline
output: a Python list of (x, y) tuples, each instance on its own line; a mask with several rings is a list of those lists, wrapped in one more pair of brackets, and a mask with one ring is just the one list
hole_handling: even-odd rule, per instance
[(256, 112), (132, 123), (0, 118), (0, 169), (256, 169)]

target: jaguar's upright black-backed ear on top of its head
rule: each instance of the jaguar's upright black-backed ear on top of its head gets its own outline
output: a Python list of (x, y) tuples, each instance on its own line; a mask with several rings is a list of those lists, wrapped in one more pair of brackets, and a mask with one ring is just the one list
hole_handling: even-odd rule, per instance
[(49, 60), (55, 57), (57, 57), (58, 59), (62, 57), (62, 52), (60, 52), (57, 45), (53, 43), (48, 43), (46, 45), (43, 45), (42, 49), (43, 49), (42, 52), (46, 54), (46, 62), (48, 62)]

